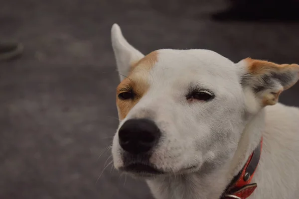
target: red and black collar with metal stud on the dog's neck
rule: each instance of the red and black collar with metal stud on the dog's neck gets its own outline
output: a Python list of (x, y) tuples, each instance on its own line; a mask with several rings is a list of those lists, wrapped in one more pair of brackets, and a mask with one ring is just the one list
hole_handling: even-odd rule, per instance
[(260, 144), (253, 151), (251, 156), (248, 158), (245, 166), (239, 172), (237, 176), (227, 186), (224, 194), (220, 199), (246, 199), (254, 190), (257, 188), (256, 183), (250, 184), (256, 168), (259, 164), (263, 146), (263, 137)]

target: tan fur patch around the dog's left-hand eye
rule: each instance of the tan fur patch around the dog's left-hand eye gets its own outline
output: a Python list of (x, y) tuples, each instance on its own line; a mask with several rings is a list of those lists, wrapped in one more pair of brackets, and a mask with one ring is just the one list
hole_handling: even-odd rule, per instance
[[(147, 56), (136, 62), (131, 67), (131, 72), (117, 87), (116, 104), (119, 118), (124, 119), (128, 112), (138, 103), (138, 101), (149, 90), (149, 72), (157, 62), (157, 51), (149, 53)], [(125, 88), (131, 88), (135, 94), (132, 100), (120, 100), (118, 95), (124, 92)]]

